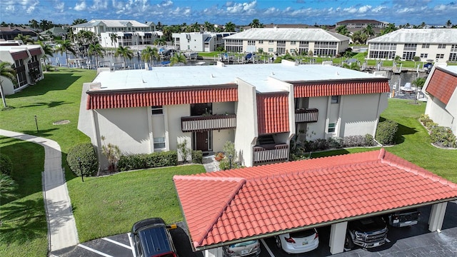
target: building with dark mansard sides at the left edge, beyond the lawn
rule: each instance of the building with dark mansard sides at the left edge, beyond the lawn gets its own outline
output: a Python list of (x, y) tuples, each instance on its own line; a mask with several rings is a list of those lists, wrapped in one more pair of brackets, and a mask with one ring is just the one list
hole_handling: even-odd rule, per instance
[(1, 77), (3, 90), (6, 95), (14, 94), (36, 81), (44, 79), (40, 59), (44, 57), (44, 51), (40, 45), (16, 45), (0, 44), (0, 61), (12, 64), (16, 71), (17, 83)]

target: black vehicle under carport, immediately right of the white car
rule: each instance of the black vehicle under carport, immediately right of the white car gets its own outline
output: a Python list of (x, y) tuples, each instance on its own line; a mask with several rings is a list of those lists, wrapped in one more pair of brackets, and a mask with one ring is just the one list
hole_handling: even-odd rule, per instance
[(351, 249), (354, 245), (363, 248), (382, 246), (386, 243), (387, 231), (386, 221), (381, 216), (350, 221), (344, 248)]

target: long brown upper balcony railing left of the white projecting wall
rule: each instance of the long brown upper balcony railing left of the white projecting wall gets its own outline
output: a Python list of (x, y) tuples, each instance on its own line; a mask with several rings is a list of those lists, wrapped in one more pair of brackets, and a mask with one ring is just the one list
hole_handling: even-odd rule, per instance
[(236, 114), (181, 117), (181, 130), (183, 132), (235, 128)]

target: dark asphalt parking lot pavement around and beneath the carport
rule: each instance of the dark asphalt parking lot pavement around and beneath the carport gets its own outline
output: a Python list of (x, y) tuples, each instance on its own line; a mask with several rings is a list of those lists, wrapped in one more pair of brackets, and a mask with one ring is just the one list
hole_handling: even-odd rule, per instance
[[(428, 231), (428, 217), (430, 206), (419, 208), (421, 220), (415, 226), (404, 228), (389, 227), (388, 241), (376, 248), (353, 248), (351, 251), (338, 253), (334, 256), (457, 256), (457, 202), (448, 203), (446, 216), (443, 221), (441, 233)], [(179, 227), (171, 230), (176, 250), (180, 257), (203, 257), (204, 253), (193, 252), (189, 243), (186, 230), (179, 223)], [(318, 228), (319, 247), (311, 252), (296, 254), (293, 256), (331, 256), (328, 240), (330, 238), (330, 226)], [(115, 256), (132, 257), (129, 234), (124, 233), (116, 236), (96, 239), (81, 243), (71, 249), (52, 253), (54, 256)], [(262, 257), (291, 256), (276, 248), (274, 238), (261, 240)]]

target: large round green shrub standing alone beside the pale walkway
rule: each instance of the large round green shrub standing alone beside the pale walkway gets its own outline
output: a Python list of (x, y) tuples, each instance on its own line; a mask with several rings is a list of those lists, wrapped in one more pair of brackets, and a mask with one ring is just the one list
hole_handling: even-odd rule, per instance
[(99, 162), (91, 143), (79, 143), (66, 155), (71, 171), (76, 176), (93, 176), (99, 169)]

